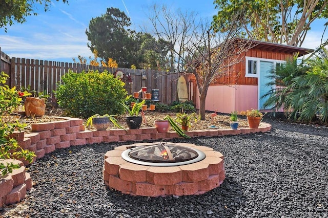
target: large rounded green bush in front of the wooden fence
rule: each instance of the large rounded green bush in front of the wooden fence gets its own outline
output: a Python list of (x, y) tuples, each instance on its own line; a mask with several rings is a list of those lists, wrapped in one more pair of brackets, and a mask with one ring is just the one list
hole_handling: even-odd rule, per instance
[(74, 73), (70, 71), (58, 84), (58, 105), (72, 116), (88, 118), (94, 114), (122, 114), (120, 104), (127, 91), (125, 83), (104, 71)]

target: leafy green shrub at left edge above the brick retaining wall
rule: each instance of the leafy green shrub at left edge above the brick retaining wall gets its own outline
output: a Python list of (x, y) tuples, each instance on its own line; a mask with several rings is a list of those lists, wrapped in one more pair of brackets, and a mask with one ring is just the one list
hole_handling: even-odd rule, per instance
[[(9, 76), (4, 72), (0, 73), (0, 160), (12, 159), (12, 158), (24, 158), (30, 163), (35, 157), (34, 152), (24, 150), (21, 148), (17, 141), (10, 139), (9, 135), (14, 131), (20, 131), (24, 129), (24, 125), (16, 123), (6, 123), (3, 121), (3, 116), (6, 116), (13, 112), (22, 97), (30, 95), (27, 92), (17, 92), (15, 87), (12, 89), (8, 85), (5, 85)], [(8, 163), (7, 165), (0, 163), (0, 173), (2, 176), (12, 172), (13, 169), (17, 169), (20, 166), (18, 164)]]

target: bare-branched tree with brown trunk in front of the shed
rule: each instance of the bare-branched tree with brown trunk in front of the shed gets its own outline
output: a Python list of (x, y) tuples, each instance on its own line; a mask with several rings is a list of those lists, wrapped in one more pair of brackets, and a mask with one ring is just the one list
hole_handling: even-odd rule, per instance
[[(214, 79), (227, 75), (234, 64), (242, 60), (245, 51), (255, 46), (252, 40), (237, 38), (241, 29), (240, 13), (231, 15), (231, 25), (224, 33), (215, 33), (209, 25), (194, 34), (185, 47), (187, 55), (184, 59), (187, 72), (196, 77), (199, 92), (199, 113), (205, 120), (205, 100), (210, 84)], [(234, 20), (234, 22), (232, 21)]]

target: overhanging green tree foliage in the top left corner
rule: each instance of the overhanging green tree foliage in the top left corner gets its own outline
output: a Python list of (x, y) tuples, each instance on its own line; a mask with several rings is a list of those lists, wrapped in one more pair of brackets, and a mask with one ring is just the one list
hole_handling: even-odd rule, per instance
[[(67, 0), (56, 1), (68, 2)], [(34, 11), (37, 3), (43, 5), (44, 10), (47, 11), (51, 0), (0, 0), (0, 28), (12, 26), (14, 22), (23, 24), (27, 16), (37, 15)]]

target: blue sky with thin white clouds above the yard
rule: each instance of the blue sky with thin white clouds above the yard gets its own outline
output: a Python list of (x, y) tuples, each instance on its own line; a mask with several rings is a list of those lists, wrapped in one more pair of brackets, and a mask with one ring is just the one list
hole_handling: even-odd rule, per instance
[[(150, 6), (163, 2), (173, 10), (193, 11), (209, 20), (217, 11), (213, 0), (69, 0), (69, 4), (53, 1), (50, 11), (37, 8), (39, 15), (27, 17), (26, 23), (7, 27), (7, 33), (0, 29), (0, 48), (10, 57), (73, 62), (72, 58), (78, 55), (92, 56), (85, 34), (92, 18), (101, 16), (107, 8), (119, 8), (131, 18), (132, 29), (139, 32), (140, 26), (150, 26)], [(319, 46), (325, 21), (316, 21), (302, 47)]]

